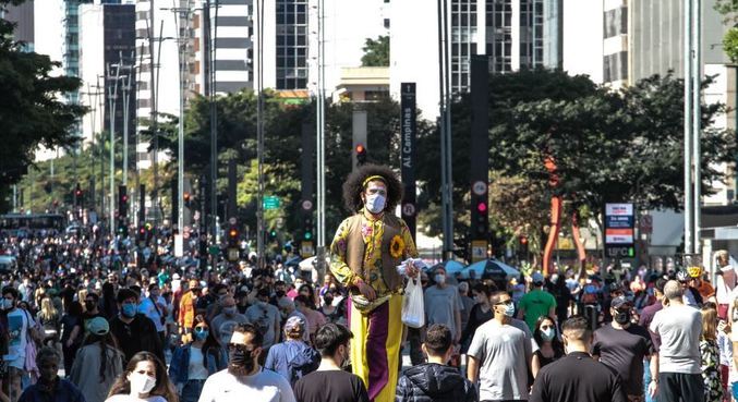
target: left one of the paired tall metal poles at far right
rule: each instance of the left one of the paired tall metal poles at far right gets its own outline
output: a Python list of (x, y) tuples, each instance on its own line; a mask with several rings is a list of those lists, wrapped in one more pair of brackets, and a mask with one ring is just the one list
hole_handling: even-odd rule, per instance
[(692, 254), (692, 0), (683, 0), (685, 39), (685, 254)]

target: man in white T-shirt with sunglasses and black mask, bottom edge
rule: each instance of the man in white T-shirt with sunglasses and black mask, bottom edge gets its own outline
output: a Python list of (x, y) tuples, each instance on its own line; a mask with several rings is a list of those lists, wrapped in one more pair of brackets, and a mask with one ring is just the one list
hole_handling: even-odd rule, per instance
[(258, 365), (262, 332), (251, 324), (234, 328), (228, 343), (228, 369), (208, 377), (199, 402), (294, 402), (289, 381)]

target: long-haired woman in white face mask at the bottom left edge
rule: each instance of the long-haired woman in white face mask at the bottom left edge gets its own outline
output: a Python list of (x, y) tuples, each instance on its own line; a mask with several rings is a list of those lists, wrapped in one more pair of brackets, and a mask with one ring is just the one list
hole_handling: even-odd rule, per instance
[(138, 352), (110, 387), (106, 402), (170, 402), (177, 401), (174, 386), (167, 367), (149, 352)]

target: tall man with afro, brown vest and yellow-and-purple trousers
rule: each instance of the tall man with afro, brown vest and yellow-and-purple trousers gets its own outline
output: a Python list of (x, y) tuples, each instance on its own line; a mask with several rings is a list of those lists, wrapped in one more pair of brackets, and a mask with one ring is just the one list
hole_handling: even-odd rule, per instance
[[(343, 183), (343, 202), (353, 214), (339, 226), (330, 245), (330, 271), (350, 289), (351, 365), (370, 400), (395, 400), (403, 325), (403, 260), (418, 257), (408, 226), (392, 211), (402, 185), (387, 167), (365, 165)], [(418, 275), (410, 265), (409, 277)], [(368, 358), (372, 356), (372, 358)]]

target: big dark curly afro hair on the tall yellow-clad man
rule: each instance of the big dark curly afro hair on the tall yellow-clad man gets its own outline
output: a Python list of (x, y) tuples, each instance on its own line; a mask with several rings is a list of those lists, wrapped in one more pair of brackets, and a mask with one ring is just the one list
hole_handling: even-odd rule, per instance
[(343, 204), (351, 212), (356, 214), (364, 206), (364, 202), (361, 200), (361, 193), (364, 191), (364, 180), (373, 175), (382, 176), (387, 184), (386, 211), (394, 210), (402, 199), (402, 184), (390, 168), (378, 165), (364, 165), (349, 174), (343, 183)]

